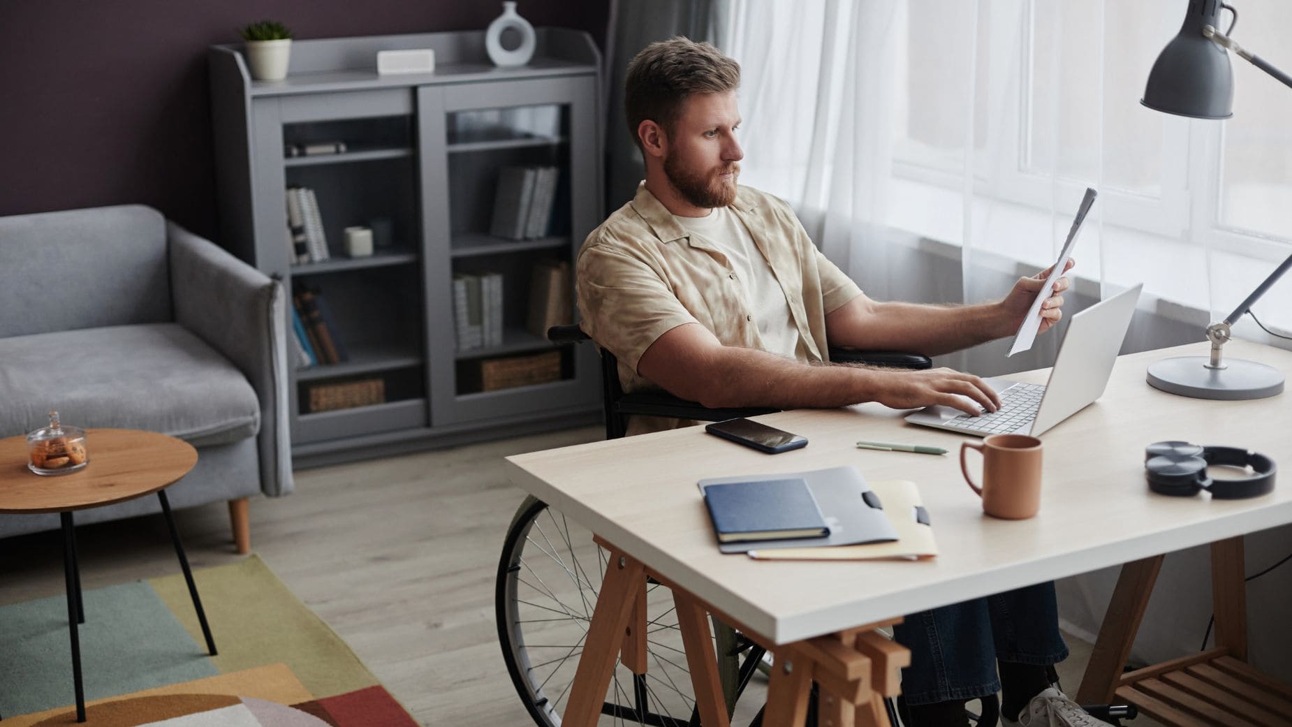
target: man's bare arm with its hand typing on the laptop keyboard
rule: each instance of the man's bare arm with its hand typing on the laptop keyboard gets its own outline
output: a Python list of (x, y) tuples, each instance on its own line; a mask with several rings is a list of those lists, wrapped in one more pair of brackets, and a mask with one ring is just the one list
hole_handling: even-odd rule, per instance
[(977, 415), (979, 407), (992, 412), (1000, 405), (995, 391), (968, 373), (810, 365), (724, 346), (698, 323), (656, 338), (638, 360), (637, 372), (674, 396), (711, 408), (828, 408), (879, 402), (898, 409), (943, 404)]

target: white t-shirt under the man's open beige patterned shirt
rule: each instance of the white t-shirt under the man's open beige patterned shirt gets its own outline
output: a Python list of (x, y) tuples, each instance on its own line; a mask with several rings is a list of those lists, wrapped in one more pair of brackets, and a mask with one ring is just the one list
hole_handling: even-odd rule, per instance
[(673, 220), (687, 231), (713, 243), (731, 263), (730, 274), (744, 289), (745, 305), (758, 327), (765, 351), (795, 358), (800, 345), (798, 327), (789, 312), (786, 292), (771, 266), (753, 243), (749, 230), (729, 207), (714, 207), (707, 217)]

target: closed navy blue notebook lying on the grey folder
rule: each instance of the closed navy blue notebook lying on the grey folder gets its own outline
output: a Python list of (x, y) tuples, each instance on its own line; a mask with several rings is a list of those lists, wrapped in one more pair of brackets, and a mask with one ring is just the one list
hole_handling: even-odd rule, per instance
[(829, 535), (802, 478), (709, 484), (704, 504), (720, 542)]

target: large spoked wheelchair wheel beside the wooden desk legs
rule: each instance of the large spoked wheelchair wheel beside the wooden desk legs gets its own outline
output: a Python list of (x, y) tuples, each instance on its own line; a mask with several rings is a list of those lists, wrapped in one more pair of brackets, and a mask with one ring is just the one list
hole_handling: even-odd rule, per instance
[[(495, 593), (497, 637), (512, 682), (540, 727), (561, 724), (606, 558), (592, 532), (535, 497), (508, 529)], [(673, 593), (651, 580), (646, 621), (646, 674), (616, 664), (601, 724), (698, 724)]]

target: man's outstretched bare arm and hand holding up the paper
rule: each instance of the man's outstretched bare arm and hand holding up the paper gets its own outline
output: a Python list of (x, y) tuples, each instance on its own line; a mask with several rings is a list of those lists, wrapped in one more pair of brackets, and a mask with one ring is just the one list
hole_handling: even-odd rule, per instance
[[(1074, 265), (1067, 261), (1065, 272)], [(1050, 269), (1019, 278), (1009, 294), (997, 302), (968, 306), (938, 306), (876, 302), (857, 296), (826, 315), (826, 337), (832, 346), (880, 351), (912, 351), (928, 356), (947, 354), (1010, 336), (1022, 324)], [(1063, 291), (1071, 282), (1059, 278), (1054, 292), (1041, 305), (1040, 331), (1063, 316)]]

